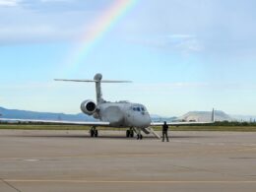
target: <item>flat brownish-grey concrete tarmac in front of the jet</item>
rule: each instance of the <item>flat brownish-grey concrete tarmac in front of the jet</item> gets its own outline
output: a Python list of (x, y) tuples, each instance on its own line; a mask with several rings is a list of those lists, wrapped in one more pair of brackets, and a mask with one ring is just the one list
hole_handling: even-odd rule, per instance
[(0, 191), (256, 191), (256, 133), (0, 130)]

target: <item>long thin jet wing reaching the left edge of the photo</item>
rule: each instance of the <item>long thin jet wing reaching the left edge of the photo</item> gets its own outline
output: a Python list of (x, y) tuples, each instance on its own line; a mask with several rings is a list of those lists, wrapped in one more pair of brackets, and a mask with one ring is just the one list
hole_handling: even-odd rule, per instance
[(109, 126), (109, 122), (96, 121), (61, 121), (61, 120), (36, 120), (36, 119), (9, 119), (0, 118), (0, 122), (32, 122), (32, 123), (51, 123), (51, 124), (62, 124), (62, 125), (89, 125), (89, 126)]

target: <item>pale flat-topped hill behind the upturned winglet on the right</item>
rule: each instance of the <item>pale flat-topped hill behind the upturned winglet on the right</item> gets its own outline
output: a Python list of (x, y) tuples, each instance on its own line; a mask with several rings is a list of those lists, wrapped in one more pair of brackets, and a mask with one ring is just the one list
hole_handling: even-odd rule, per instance
[[(212, 111), (190, 111), (178, 118), (178, 120), (184, 121), (211, 121)], [(224, 113), (222, 110), (215, 111), (216, 121), (232, 121), (234, 120), (228, 114)]]

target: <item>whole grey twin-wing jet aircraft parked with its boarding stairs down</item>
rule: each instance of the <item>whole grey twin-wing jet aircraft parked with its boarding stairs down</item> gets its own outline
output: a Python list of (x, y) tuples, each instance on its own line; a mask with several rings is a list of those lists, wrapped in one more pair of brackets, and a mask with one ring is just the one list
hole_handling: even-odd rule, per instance
[[(20, 122), (41, 122), (41, 123), (55, 123), (68, 125), (89, 125), (92, 126), (90, 130), (91, 137), (97, 137), (98, 132), (96, 127), (115, 127), (128, 128), (126, 137), (134, 137), (137, 134), (137, 139), (142, 139), (141, 131), (145, 134), (154, 134), (156, 137), (160, 136), (154, 131), (153, 126), (161, 126), (163, 122), (152, 122), (150, 113), (145, 105), (140, 103), (132, 103), (128, 101), (110, 102), (102, 97), (101, 83), (130, 83), (130, 81), (109, 81), (102, 80), (101, 74), (96, 74), (94, 80), (66, 80), (55, 79), (55, 81), (69, 81), (69, 82), (93, 82), (96, 83), (96, 102), (92, 99), (87, 99), (81, 103), (81, 110), (88, 115), (93, 115), (99, 121), (96, 122), (79, 122), (79, 121), (54, 121), (54, 120), (34, 120), (34, 119), (8, 119), (0, 118), (0, 121), (20, 121)], [(212, 113), (211, 122), (167, 122), (167, 125), (191, 125), (191, 124), (209, 124), (214, 123), (214, 109)]]

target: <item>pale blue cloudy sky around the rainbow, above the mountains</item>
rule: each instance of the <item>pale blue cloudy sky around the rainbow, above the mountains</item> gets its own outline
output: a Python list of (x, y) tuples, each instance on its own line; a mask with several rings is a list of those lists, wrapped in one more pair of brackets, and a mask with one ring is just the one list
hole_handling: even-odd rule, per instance
[[(0, 105), (77, 113), (95, 85), (154, 114), (215, 107), (256, 115), (256, 1), (138, 0), (75, 65), (69, 57), (113, 0), (0, 0)], [(68, 66), (68, 67), (67, 67)]]

